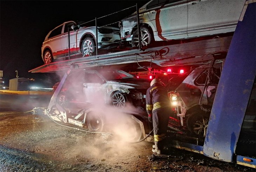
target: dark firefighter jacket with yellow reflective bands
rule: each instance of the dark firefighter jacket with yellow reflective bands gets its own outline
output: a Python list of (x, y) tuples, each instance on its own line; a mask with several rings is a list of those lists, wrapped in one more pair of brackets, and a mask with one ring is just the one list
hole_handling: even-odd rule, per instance
[(170, 107), (170, 99), (166, 88), (161, 84), (155, 83), (147, 90), (146, 110), (148, 115), (162, 108)]

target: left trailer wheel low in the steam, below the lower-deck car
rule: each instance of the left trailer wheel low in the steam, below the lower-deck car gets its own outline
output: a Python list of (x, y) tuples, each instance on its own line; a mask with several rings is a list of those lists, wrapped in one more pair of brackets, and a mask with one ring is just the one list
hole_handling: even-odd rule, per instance
[(87, 126), (91, 131), (102, 132), (104, 130), (104, 119), (96, 113), (88, 114)]

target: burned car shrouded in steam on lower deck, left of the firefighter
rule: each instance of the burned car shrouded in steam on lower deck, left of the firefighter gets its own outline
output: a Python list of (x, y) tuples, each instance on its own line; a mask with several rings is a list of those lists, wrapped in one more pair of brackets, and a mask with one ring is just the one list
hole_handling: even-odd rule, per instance
[(57, 101), (65, 108), (104, 103), (122, 109), (128, 102), (144, 107), (148, 88), (149, 81), (122, 70), (75, 70), (67, 77)]

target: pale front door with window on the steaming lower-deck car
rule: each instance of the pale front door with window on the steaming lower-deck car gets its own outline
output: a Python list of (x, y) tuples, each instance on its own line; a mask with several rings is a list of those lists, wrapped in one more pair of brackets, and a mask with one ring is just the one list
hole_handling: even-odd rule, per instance
[(83, 83), (83, 94), (87, 103), (105, 103), (106, 81), (95, 71), (87, 71)]

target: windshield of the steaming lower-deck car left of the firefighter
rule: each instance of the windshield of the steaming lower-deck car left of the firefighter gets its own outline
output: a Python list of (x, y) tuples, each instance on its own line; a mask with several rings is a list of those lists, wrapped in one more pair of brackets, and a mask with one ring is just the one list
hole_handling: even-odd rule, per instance
[(102, 70), (99, 73), (106, 78), (108, 81), (115, 81), (126, 78), (134, 78), (133, 75), (130, 75), (122, 70)]

